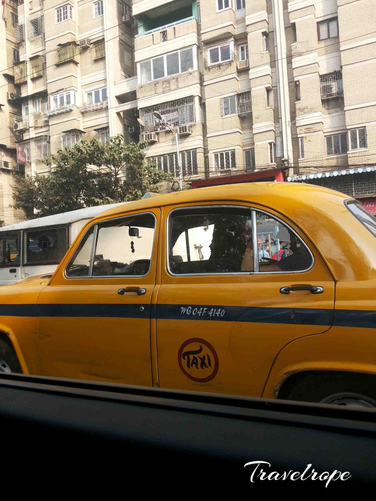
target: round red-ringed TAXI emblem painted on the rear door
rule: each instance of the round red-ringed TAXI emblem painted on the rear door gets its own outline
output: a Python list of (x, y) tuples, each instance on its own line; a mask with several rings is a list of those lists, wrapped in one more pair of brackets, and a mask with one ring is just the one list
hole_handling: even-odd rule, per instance
[(217, 376), (218, 355), (205, 339), (191, 338), (184, 341), (177, 355), (181, 372), (197, 383), (207, 383)]

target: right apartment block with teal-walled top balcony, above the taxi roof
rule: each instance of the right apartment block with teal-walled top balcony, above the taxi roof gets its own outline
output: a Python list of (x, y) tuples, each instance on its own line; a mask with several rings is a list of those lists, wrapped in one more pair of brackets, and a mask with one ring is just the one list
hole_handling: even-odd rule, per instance
[(160, 168), (176, 173), (170, 127), (185, 185), (330, 184), (345, 170), (376, 193), (374, 169), (356, 169), (375, 164), (375, 2), (133, 0), (133, 16), (137, 107)]

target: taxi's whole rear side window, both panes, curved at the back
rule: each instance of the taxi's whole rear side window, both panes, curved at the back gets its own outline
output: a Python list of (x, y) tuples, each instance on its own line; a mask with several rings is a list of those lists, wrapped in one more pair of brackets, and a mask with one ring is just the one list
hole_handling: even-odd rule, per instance
[(168, 267), (174, 275), (297, 272), (313, 264), (296, 233), (261, 211), (175, 210), (168, 228)]

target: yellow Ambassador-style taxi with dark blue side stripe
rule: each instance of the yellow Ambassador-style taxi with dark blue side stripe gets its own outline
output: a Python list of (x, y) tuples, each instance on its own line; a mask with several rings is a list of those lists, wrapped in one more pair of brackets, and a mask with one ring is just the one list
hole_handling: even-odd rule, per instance
[(376, 218), (332, 190), (119, 205), (0, 295), (5, 372), (376, 407)]

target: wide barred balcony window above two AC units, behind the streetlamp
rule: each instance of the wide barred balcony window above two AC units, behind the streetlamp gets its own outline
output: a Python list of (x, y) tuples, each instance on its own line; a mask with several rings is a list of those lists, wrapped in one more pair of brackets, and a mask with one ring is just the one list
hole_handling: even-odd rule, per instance
[(154, 117), (153, 113), (160, 113), (164, 122), (171, 128), (179, 125), (196, 123), (194, 97), (190, 96), (176, 101), (169, 101), (150, 108), (140, 108), (140, 118), (145, 123), (144, 133), (168, 131), (165, 124)]

